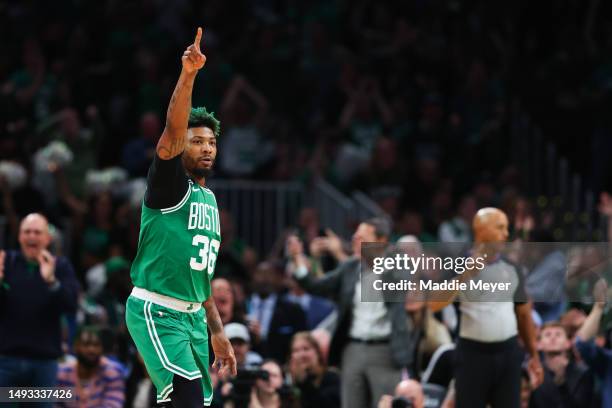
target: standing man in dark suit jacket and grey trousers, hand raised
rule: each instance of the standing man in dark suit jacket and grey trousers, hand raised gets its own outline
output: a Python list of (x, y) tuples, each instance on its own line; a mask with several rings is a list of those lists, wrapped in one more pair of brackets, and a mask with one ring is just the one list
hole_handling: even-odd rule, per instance
[(362, 222), (353, 234), (353, 256), (319, 279), (309, 275), (303, 253), (289, 251), (289, 268), (298, 283), (308, 292), (330, 297), (338, 304), (329, 362), (342, 371), (343, 407), (372, 406), (384, 394), (393, 392), (401, 369), (412, 364), (416, 339), (408, 330), (403, 303), (361, 301), (361, 243), (387, 243), (390, 234), (387, 219)]

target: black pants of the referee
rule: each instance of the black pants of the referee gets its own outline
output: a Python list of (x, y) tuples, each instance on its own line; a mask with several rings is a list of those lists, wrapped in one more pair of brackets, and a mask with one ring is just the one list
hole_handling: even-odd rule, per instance
[(455, 354), (456, 408), (518, 408), (524, 353), (515, 337), (496, 343), (459, 339)]

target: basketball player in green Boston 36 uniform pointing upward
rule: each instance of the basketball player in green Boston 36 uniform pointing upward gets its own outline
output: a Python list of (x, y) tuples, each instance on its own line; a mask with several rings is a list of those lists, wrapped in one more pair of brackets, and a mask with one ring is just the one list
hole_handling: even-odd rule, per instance
[(155, 384), (157, 402), (181, 408), (212, 401), (207, 327), (220, 375), (236, 374), (234, 351), (210, 290), (221, 235), (215, 195), (205, 184), (220, 125), (205, 108), (191, 109), (195, 77), (206, 62), (201, 38), (198, 28), (183, 53), (149, 168), (131, 270), (134, 290), (126, 307), (127, 327)]

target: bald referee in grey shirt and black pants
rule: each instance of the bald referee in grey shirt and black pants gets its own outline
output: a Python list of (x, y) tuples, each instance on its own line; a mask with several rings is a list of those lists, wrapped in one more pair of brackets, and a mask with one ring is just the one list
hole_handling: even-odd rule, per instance
[[(508, 239), (508, 218), (497, 208), (476, 213), (472, 228), (472, 257), (484, 257), (486, 266), (461, 276), (488, 283), (511, 283), (505, 295), (485, 291), (449, 293), (444, 302), (431, 302), (434, 311), (453, 301), (459, 302), (461, 323), (455, 354), (457, 408), (518, 408), (520, 406), (521, 365), (524, 351), (529, 354), (527, 369), (532, 388), (543, 380), (536, 349), (536, 333), (531, 304), (526, 302), (522, 275), (518, 268), (500, 256)], [(502, 297), (505, 296), (505, 297)]]

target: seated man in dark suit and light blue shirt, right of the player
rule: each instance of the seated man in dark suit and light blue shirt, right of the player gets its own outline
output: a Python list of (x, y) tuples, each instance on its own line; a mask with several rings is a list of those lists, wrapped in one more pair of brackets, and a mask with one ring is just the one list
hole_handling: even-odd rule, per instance
[(279, 294), (282, 271), (276, 265), (260, 263), (252, 283), (248, 320), (254, 335), (254, 349), (264, 358), (273, 358), (283, 364), (289, 355), (293, 335), (306, 330), (306, 316), (299, 305)]

